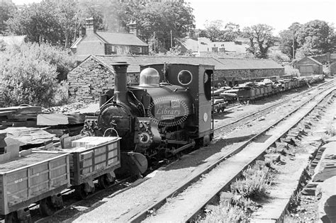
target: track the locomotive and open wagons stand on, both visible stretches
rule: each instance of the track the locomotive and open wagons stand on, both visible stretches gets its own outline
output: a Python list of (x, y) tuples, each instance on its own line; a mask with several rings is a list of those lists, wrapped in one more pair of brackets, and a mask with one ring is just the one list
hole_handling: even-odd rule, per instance
[[(303, 91), (302, 93), (299, 93), (297, 96), (302, 96), (303, 94), (308, 93), (309, 91), (313, 91), (316, 88), (320, 88), (320, 87), (325, 86), (327, 84), (330, 84), (330, 82), (326, 82), (324, 84), (320, 84), (318, 86), (314, 86), (313, 88), (309, 88), (308, 90)], [(286, 103), (288, 101), (291, 101), (291, 99), (292, 98), (285, 99), (283, 101), (280, 101), (279, 103), (270, 105), (269, 107), (264, 108), (262, 110), (259, 110), (259, 111), (255, 112), (255, 113), (252, 113), (250, 115), (246, 115), (243, 118), (240, 118), (239, 120), (235, 120), (233, 123), (230, 123), (228, 125), (224, 125), (223, 127), (218, 127), (218, 128), (215, 129), (215, 132), (217, 133), (219, 131), (220, 135), (223, 135), (223, 132), (225, 132), (227, 134), (228, 132), (231, 132), (235, 128), (237, 128), (237, 127), (239, 127), (241, 125), (245, 125), (247, 122), (251, 122), (252, 120), (255, 120), (256, 118), (258, 118), (258, 117), (260, 117), (262, 115), (265, 115), (265, 113), (269, 113), (269, 110), (271, 110), (272, 108), (274, 108), (276, 106), (279, 106), (279, 105), (281, 105), (283, 103)], [(225, 129), (225, 131), (223, 131), (222, 129)], [(219, 134), (215, 135), (215, 137), (218, 137), (218, 136), (219, 136)], [(106, 193), (106, 190), (113, 191), (113, 188), (118, 188), (118, 189), (116, 189), (117, 192), (113, 193), (113, 195), (111, 195), (111, 196), (118, 195), (119, 193), (122, 193), (124, 190), (128, 190), (128, 188), (130, 188), (130, 185), (132, 185), (132, 184), (123, 185), (123, 183), (125, 183), (127, 181), (130, 181), (130, 178), (122, 180), (122, 181), (120, 181), (120, 182), (118, 182), (116, 184), (113, 184), (113, 185), (111, 185), (108, 188), (105, 188), (103, 190), (96, 190), (96, 192), (90, 194), (85, 200), (90, 200), (92, 198), (99, 197), (103, 193)], [(71, 193), (71, 192), (69, 190), (66, 190), (64, 193), (67, 194), (67, 193)], [(70, 200), (65, 200), (65, 207), (62, 210), (58, 210), (57, 212), (55, 212), (55, 214), (53, 216), (55, 216), (57, 214), (60, 214), (61, 212), (66, 211), (69, 208), (72, 208), (74, 206), (80, 205), (81, 202), (83, 202), (83, 200), (74, 201), (73, 198), (70, 198)], [(33, 206), (30, 206), (30, 207), (33, 207)], [(37, 213), (33, 212), (32, 214), (34, 215), (34, 214), (37, 214)], [(37, 216), (33, 216), (32, 218), (33, 218), (34, 222), (53, 222), (54, 221), (54, 219), (52, 218), (53, 216), (41, 218), (41, 216), (37, 214)]]

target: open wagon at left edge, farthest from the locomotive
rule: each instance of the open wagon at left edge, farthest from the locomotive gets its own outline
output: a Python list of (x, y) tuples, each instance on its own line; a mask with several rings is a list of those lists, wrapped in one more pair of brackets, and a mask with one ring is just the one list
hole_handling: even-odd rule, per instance
[(62, 208), (60, 193), (69, 187), (69, 154), (23, 151), (1, 155), (0, 215), (5, 222), (29, 221), (30, 204), (50, 215)]

